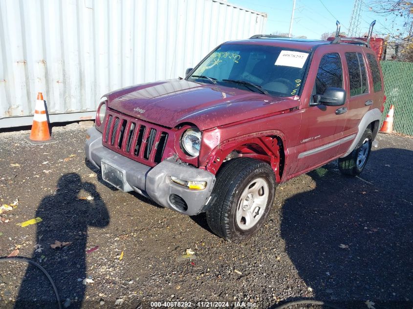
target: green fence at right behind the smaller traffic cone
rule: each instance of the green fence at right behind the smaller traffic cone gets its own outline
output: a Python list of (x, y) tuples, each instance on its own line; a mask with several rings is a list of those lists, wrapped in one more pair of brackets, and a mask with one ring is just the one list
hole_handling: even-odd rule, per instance
[(413, 63), (382, 61), (380, 64), (387, 97), (382, 122), (393, 104), (393, 131), (413, 136)]

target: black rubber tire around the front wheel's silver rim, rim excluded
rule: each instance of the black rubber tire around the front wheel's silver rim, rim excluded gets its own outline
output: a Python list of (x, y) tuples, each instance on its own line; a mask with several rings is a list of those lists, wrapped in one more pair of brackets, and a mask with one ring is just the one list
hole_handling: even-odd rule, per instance
[[(261, 217), (255, 219), (256, 224), (249, 229), (242, 229), (236, 220), (237, 206), (242, 192), (255, 179), (262, 179), (268, 185), (267, 203), (260, 214)], [(217, 236), (234, 243), (248, 239), (264, 224), (274, 202), (275, 187), (274, 172), (265, 162), (238, 158), (224, 163), (217, 173), (217, 182), (211, 198), (212, 205), (206, 212), (209, 227)]]

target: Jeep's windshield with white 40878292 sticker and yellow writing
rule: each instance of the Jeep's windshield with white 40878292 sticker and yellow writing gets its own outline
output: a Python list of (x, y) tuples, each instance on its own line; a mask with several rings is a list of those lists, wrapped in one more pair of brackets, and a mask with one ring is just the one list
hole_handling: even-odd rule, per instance
[(284, 47), (224, 44), (188, 79), (290, 97), (300, 91), (308, 55)]

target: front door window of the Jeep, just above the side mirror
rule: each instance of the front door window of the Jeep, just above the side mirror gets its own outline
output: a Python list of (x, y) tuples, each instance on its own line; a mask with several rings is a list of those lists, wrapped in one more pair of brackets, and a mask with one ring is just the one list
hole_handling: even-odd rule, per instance
[(329, 53), (321, 58), (315, 85), (316, 94), (324, 94), (328, 87), (343, 88), (343, 69), (338, 53)]

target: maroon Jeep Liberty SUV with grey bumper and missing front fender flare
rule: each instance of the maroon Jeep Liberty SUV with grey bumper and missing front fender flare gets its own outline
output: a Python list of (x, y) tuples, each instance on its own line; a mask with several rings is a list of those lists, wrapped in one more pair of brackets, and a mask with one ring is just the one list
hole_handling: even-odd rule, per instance
[(116, 188), (206, 212), (214, 233), (240, 242), (262, 227), (278, 184), (336, 159), (358, 175), (384, 100), (368, 42), (258, 35), (219, 45), (184, 79), (106, 94), (86, 156)]

